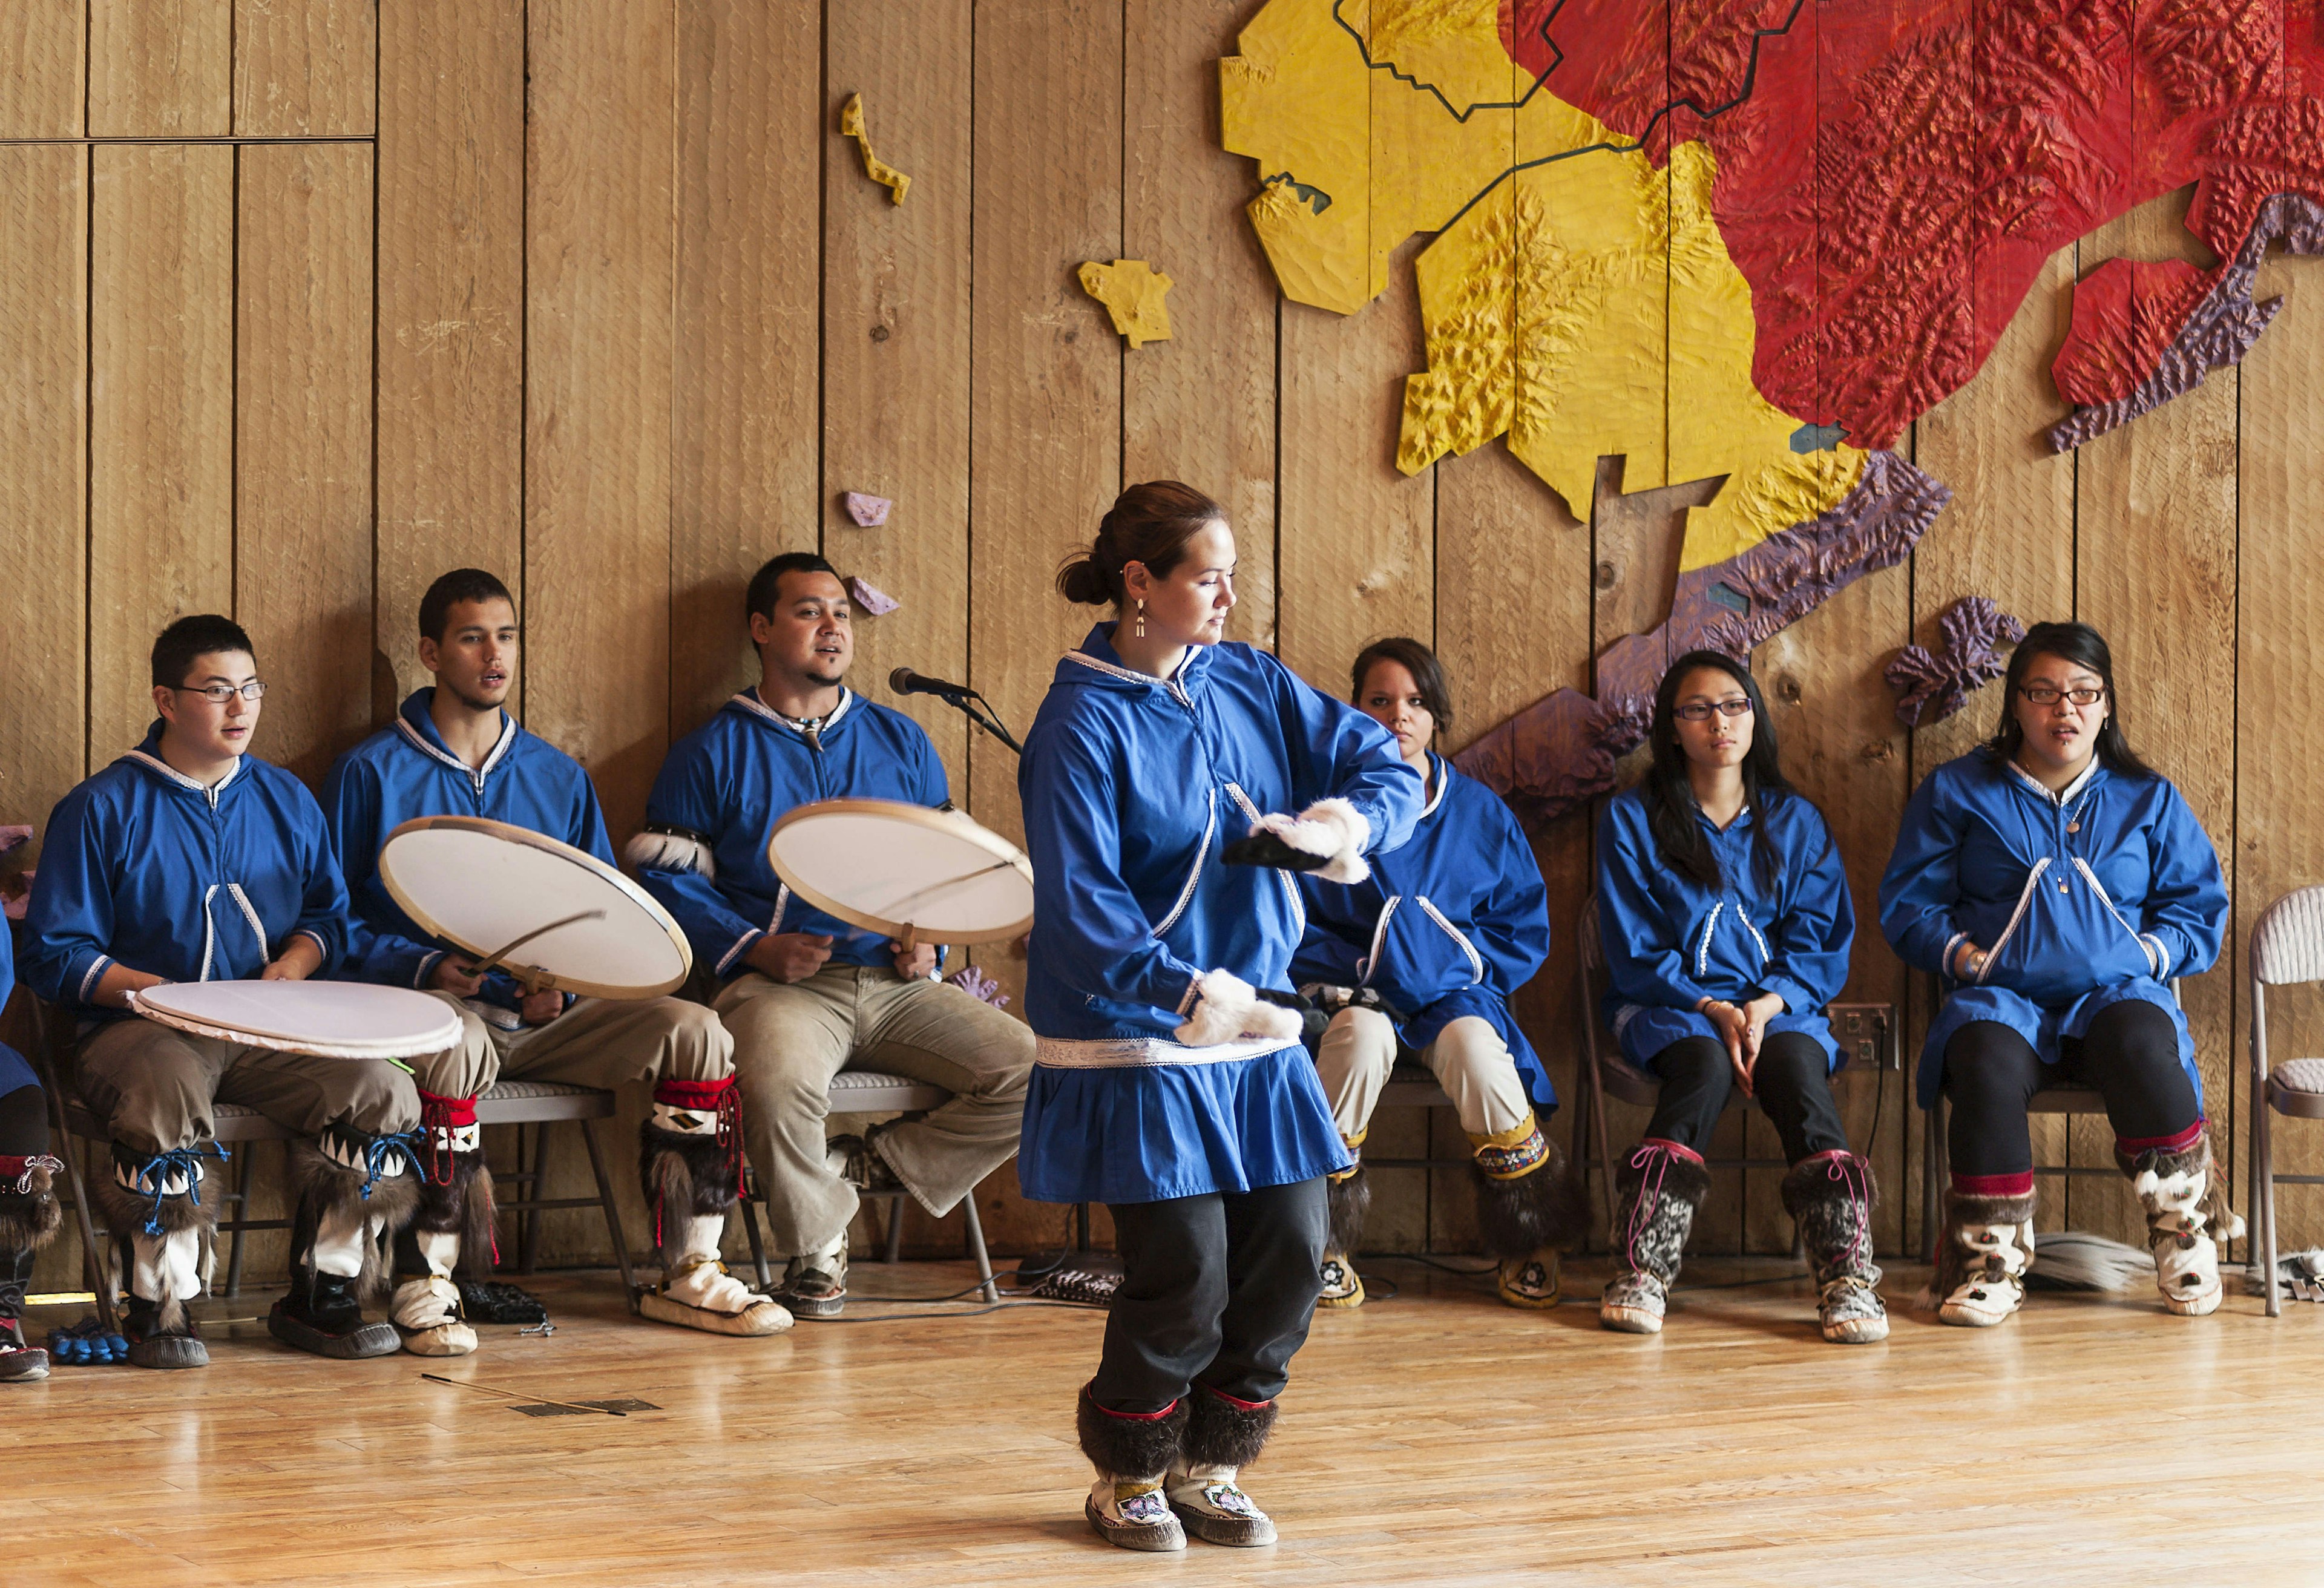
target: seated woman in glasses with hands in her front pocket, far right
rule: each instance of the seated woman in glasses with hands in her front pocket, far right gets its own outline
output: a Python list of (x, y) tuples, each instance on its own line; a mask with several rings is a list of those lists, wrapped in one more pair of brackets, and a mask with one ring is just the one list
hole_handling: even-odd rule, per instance
[(2094, 1086), (2147, 1216), (2164, 1302), (2219, 1307), (2240, 1232), (2212, 1174), (2194, 1039), (2166, 981), (2210, 970), (2219, 856), (2178, 788), (2122, 737), (2115, 665), (2087, 623), (2036, 623), (1992, 742), (1931, 772), (1880, 879), (1880, 930), (1941, 977), (1920, 1104), (1952, 1102), (1952, 1183), (1931, 1295), (1987, 1328), (2024, 1302), (2043, 1086)]

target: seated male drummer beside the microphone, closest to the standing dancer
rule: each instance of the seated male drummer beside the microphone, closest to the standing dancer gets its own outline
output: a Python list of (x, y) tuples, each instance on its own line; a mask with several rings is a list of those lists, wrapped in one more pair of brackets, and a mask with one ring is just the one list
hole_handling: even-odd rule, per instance
[[(630, 858), (723, 981), (713, 1007), (734, 1032), (744, 1139), (790, 1253), (776, 1300), (830, 1318), (846, 1300), (858, 1190), (902, 1186), (941, 1216), (1016, 1151), (1032, 1030), (937, 981), (934, 949), (834, 921), (774, 874), (767, 835), (792, 807), (948, 800), (920, 725), (841, 684), (855, 635), (830, 563), (774, 558), (751, 579), (748, 614), (760, 686), (672, 746)], [(955, 1095), (927, 1118), (825, 1144), (830, 1083), (848, 1063)]]

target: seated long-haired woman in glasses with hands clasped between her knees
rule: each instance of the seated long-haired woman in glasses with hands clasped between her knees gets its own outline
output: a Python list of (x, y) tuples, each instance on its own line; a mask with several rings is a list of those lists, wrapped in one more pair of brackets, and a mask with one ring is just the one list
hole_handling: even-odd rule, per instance
[(1606, 1018), (1662, 1093), (1615, 1179), (1613, 1242), (1629, 1267), (1606, 1286), (1599, 1323), (1662, 1330), (1710, 1186), (1703, 1144), (1741, 1086), (1792, 1165), (1783, 1204), (1815, 1267), (1824, 1339), (1885, 1339), (1873, 1174), (1831, 1100), (1824, 1004), (1848, 981), (1857, 932), (1831, 830), (1783, 779), (1743, 663), (1717, 651), (1671, 663), (1648, 742), (1645, 777), (1599, 818), (1599, 939)]

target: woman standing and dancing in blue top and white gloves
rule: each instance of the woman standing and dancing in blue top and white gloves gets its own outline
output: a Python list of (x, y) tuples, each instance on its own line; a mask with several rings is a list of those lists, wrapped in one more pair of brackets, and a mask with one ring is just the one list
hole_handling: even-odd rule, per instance
[(1222, 846), (1250, 830), (1269, 865), (1360, 881), (1367, 851), (1411, 832), (1420, 779), (1378, 723), (1220, 644), (1234, 535), (1199, 491), (1125, 491), (1057, 588), (1120, 614), (1057, 663), (1018, 774), (1039, 1035), (1018, 1181), (1106, 1202), (1122, 1253), (1081, 1390), (1085, 1516), (1122, 1548), (1185, 1548), (1188, 1528), (1269, 1544), (1236, 1472), (1306, 1339), (1322, 1176), (1348, 1158), (1299, 1016), (1267, 993), (1299, 886)]

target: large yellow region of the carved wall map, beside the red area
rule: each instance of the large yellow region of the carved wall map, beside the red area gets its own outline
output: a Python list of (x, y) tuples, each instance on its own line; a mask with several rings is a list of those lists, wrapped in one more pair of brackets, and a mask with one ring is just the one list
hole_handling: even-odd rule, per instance
[(1727, 474), (1687, 514), (1690, 570), (1827, 512), (1864, 453), (1794, 453), (1799, 421), (1752, 384), (1708, 146), (1655, 170), (1515, 70), (1497, 2), (1271, 0), (1243, 30), (1225, 144), (1271, 184), (1250, 216), (1285, 295), (1353, 314), (1406, 237), (1439, 233), (1413, 267), (1429, 367), (1404, 391), (1408, 474), (1504, 435), (1578, 516), (1608, 453), (1627, 491)]

